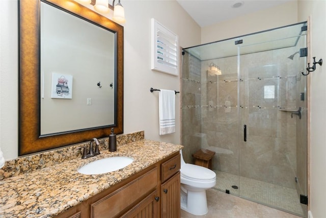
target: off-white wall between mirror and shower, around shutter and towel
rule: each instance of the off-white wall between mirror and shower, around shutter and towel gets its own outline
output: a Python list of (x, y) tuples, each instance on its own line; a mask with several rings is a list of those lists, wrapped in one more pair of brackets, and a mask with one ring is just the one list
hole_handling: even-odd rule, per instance
[[(180, 100), (176, 94), (176, 133), (158, 134), (158, 92), (180, 91), (176, 76), (151, 70), (150, 19), (153, 17), (179, 36), (179, 46), (200, 44), (200, 27), (176, 1), (126, 1), (124, 132), (145, 130), (145, 138), (180, 143)], [(167, 13), (169, 11), (169, 13)]]

